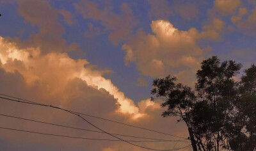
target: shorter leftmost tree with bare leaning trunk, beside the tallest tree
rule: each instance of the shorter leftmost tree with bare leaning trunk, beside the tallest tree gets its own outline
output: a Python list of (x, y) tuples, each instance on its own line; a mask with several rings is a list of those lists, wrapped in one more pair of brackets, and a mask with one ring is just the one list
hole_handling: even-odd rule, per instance
[[(189, 111), (195, 102), (195, 94), (191, 88), (184, 86), (181, 83), (176, 84), (176, 77), (165, 77), (163, 79), (154, 79), (154, 89), (151, 91), (158, 99), (164, 100), (161, 107), (168, 106), (168, 109), (163, 112), (162, 116), (179, 116), (178, 122), (185, 122), (191, 138), (193, 150), (196, 150), (195, 139), (191, 131), (191, 117)], [(151, 97), (153, 101), (154, 98)]]

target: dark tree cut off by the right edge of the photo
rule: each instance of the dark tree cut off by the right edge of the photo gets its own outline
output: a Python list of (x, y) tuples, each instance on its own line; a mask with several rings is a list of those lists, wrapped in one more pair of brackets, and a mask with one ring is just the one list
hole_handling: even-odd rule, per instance
[(230, 147), (233, 150), (256, 150), (256, 66), (244, 70), (239, 86), (236, 116), (234, 116), (235, 132), (230, 133)]

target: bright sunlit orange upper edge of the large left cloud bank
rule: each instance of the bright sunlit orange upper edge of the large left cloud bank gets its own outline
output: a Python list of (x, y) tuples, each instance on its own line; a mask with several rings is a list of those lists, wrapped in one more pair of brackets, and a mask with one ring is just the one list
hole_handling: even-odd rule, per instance
[[(67, 53), (49, 53), (40, 55), (40, 49), (18, 49), (15, 43), (0, 40), (2, 67), (7, 72), (19, 71), (28, 84), (36, 83), (37, 80), (45, 85), (47, 93), (62, 93), (69, 79), (78, 77), (95, 88), (104, 88), (121, 104), (120, 111), (137, 114), (138, 107), (134, 106), (131, 99), (124, 96), (109, 79), (102, 77), (102, 72), (92, 70), (88, 61), (73, 60)], [(88, 65), (88, 66), (86, 66)], [(85, 67), (84, 67), (85, 66)], [(63, 75), (63, 73), (66, 73)]]

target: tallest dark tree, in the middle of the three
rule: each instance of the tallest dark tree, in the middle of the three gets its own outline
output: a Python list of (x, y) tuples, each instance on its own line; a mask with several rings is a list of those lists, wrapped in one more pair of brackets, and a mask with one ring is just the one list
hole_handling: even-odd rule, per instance
[[(201, 70), (196, 73), (195, 90), (198, 101), (191, 110), (192, 125), (196, 136), (205, 139), (207, 150), (228, 148), (225, 125), (232, 117), (234, 100), (237, 97), (238, 83), (233, 77), (239, 72), (241, 64), (223, 61), (213, 56), (202, 62)], [(203, 104), (203, 105), (202, 105)], [(202, 113), (198, 112), (202, 107)], [(205, 113), (205, 114), (204, 114)], [(199, 116), (204, 114), (204, 116)], [(198, 127), (198, 125), (200, 125)], [(200, 129), (204, 127), (204, 129)]]

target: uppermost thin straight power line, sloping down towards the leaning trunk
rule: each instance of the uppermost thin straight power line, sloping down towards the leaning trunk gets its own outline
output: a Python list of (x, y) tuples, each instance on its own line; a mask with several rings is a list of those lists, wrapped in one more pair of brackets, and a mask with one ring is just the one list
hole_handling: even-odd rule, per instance
[[(38, 105), (40, 104), (40, 103), (38, 103), (38, 102), (33, 102), (33, 101), (31, 101), (31, 100), (26, 100), (26, 99), (20, 99), (20, 98), (18, 98), (18, 97), (13, 97), (13, 96), (10, 96), (10, 95), (5, 95), (5, 94), (1, 94), (1, 93), (0, 93), (0, 95), (6, 96), (6, 97), (12, 97), (12, 98), (18, 99), (18, 100), (28, 101), (28, 102), (35, 103), (35, 104), (38, 104)], [(44, 106), (44, 104), (40, 104), (40, 105), (43, 105), (43, 106)], [(173, 135), (173, 134), (168, 134), (168, 133), (165, 133), (165, 132), (159, 132), (159, 131), (152, 130), (152, 129), (146, 129), (146, 128), (144, 128), (144, 127), (138, 127), (138, 126), (136, 126), (136, 125), (131, 125), (131, 124), (122, 123), (122, 122), (116, 122), (116, 121), (114, 121), (114, 120), (109, 120), (109, 119), (106, 119), (106, 118), (100, 118), (100, 117), (98, 117), (98, 116), (93, 116), (93, 115), (88, 115), (88, 114), (84, 114), (84, 113), (79, 113), (79, 112), (76, 112), (76, 111), (72, 111), (72, 112), (73, 112), (73, 113), (77, 113), (77, 114), (79, 114), (79, 115), (90, 116), (90, 117), (92, 117), (92, 118), (98, 118), (98, 119), (100, 119), (100, 120), (106, 120), (106, 121), (108, 121), (108, 122), (114, 122), (114, 123), (118, 123), (118, 124), (122, 124), (122, 125), (127, 125), (127, 126), (129, 126), (129, 127), (135, 127), (135, 128), (138, 128), (138, 129), (143, 129), (143, 130), (145, 130), (145, 131), (157, 132), (157, 133), (159, 133), (159, 134), (165, 134), (165, 135), (173, 136), (173, 137), (177, 137), (177, 138), (188, 139), (188, 138), (183, 138), (183, 137), (176, 136), (176, 135)]]

